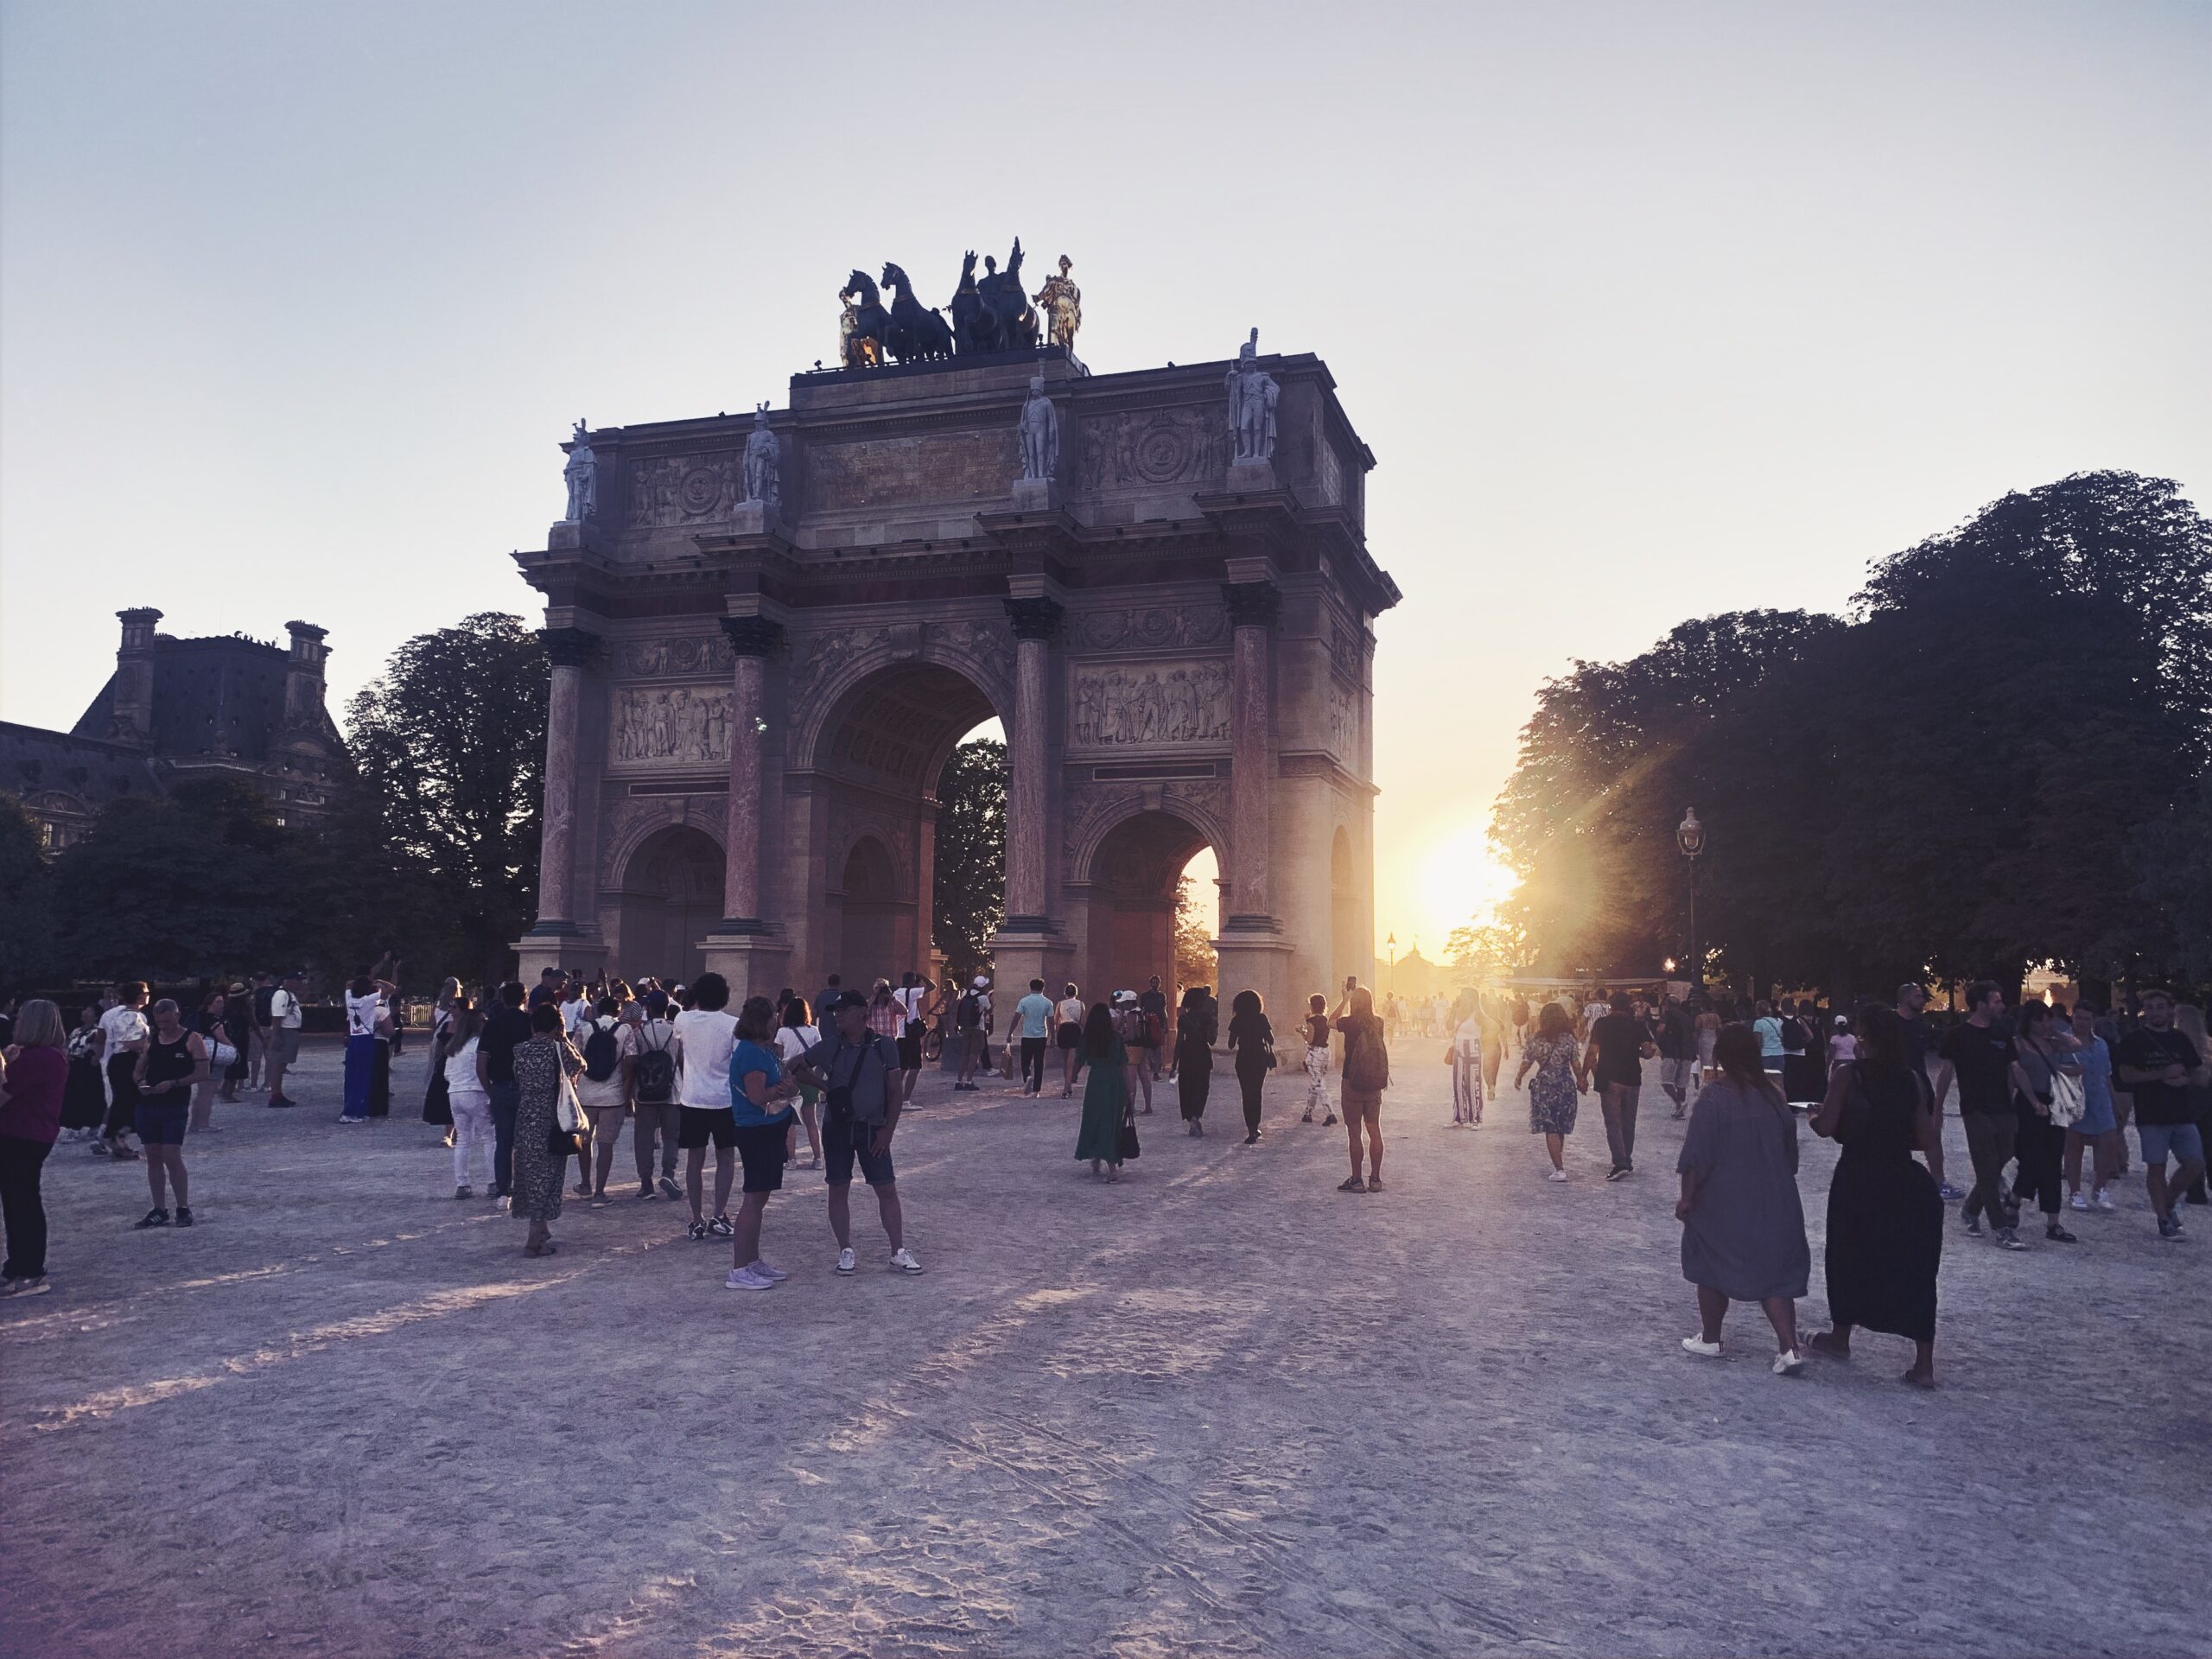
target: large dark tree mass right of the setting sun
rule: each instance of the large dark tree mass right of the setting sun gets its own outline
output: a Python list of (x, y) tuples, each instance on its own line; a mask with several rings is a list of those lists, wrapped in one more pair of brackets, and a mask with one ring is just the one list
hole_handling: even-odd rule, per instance
[(1688, 938), (1710, 967), (1854, 987), (2031, 962), (2190, 971), (2208, 922), (2212, 524), (2163, 480), (2006, 495), (1874, 566), (1854, 615), (1688, 622), (1575, 664), (1522, 730), (1504, 920), (1555, 971)]

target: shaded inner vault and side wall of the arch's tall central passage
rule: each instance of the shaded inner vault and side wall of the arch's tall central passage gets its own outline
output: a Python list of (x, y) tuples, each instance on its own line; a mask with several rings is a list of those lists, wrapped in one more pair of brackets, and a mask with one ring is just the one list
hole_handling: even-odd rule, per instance
[(801, 973), (863, 987), (931, 971), (938, 781), (953, 748), (998, 712), (973, 679), (936, 661), (880, 666), (832, 697), (801, 743), (823, 847), (807, 869)]

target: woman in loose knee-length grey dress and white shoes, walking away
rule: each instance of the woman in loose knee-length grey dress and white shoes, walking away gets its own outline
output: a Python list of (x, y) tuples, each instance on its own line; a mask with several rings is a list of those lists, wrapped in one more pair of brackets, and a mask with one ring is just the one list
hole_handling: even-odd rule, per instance
[(1681, 1345), (1721, 1356), (1728, 1303), (1759, 1303), (1774, 1327), (1776, 1376), (1796, 1376), (1796, 1298), (1812, 1276), (1805, 1206), (1796, 1192), (1796, 1119), (1759, 1060), (1745, 1024), (1712, 1046), (1721, 1075), (1690, 1113), (1681, 1141), (1681, 1276), (1697, 1285), (1699, 1334)]

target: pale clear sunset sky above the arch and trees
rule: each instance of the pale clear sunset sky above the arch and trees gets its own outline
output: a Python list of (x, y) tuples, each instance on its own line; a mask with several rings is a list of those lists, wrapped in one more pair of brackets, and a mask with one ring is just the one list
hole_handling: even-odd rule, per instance
[[(1546, 677), (2011, 489), (2212, 504), (2205, 4), (0, 4), (0, 719), (115, 617), (533, 613), (557, 442), (787, 400), (836, 288), (1068, 252), (1097, 372), (1318, 352), (1378, 458), (1376, 933)], [(942, 281), (940, 281), (942, 279)]]

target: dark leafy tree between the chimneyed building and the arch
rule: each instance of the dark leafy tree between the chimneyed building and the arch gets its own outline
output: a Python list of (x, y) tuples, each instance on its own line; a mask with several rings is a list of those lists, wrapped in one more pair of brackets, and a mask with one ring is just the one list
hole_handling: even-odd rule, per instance
[[(509, 940), (538, 909), (538, 814), (544, 790), (546, 653), (520, 617), (480, 613), (416, 635), (347, 708), (347, 743), (374, 825), (334, 841), (376, 847), (389, 889), (411, 889), (427, 949), (403, 949), (436, 975), (502, 978)], [(385, 918), (365, 918), (369, 931)], [(361, 931), (361, 929), (356, 929)], [(396, 929), (403, 931), (403, 929)], [(447, 940), (445, 945), (438, 938)], [(400, 940), (361, 936), (352, 953)]]

